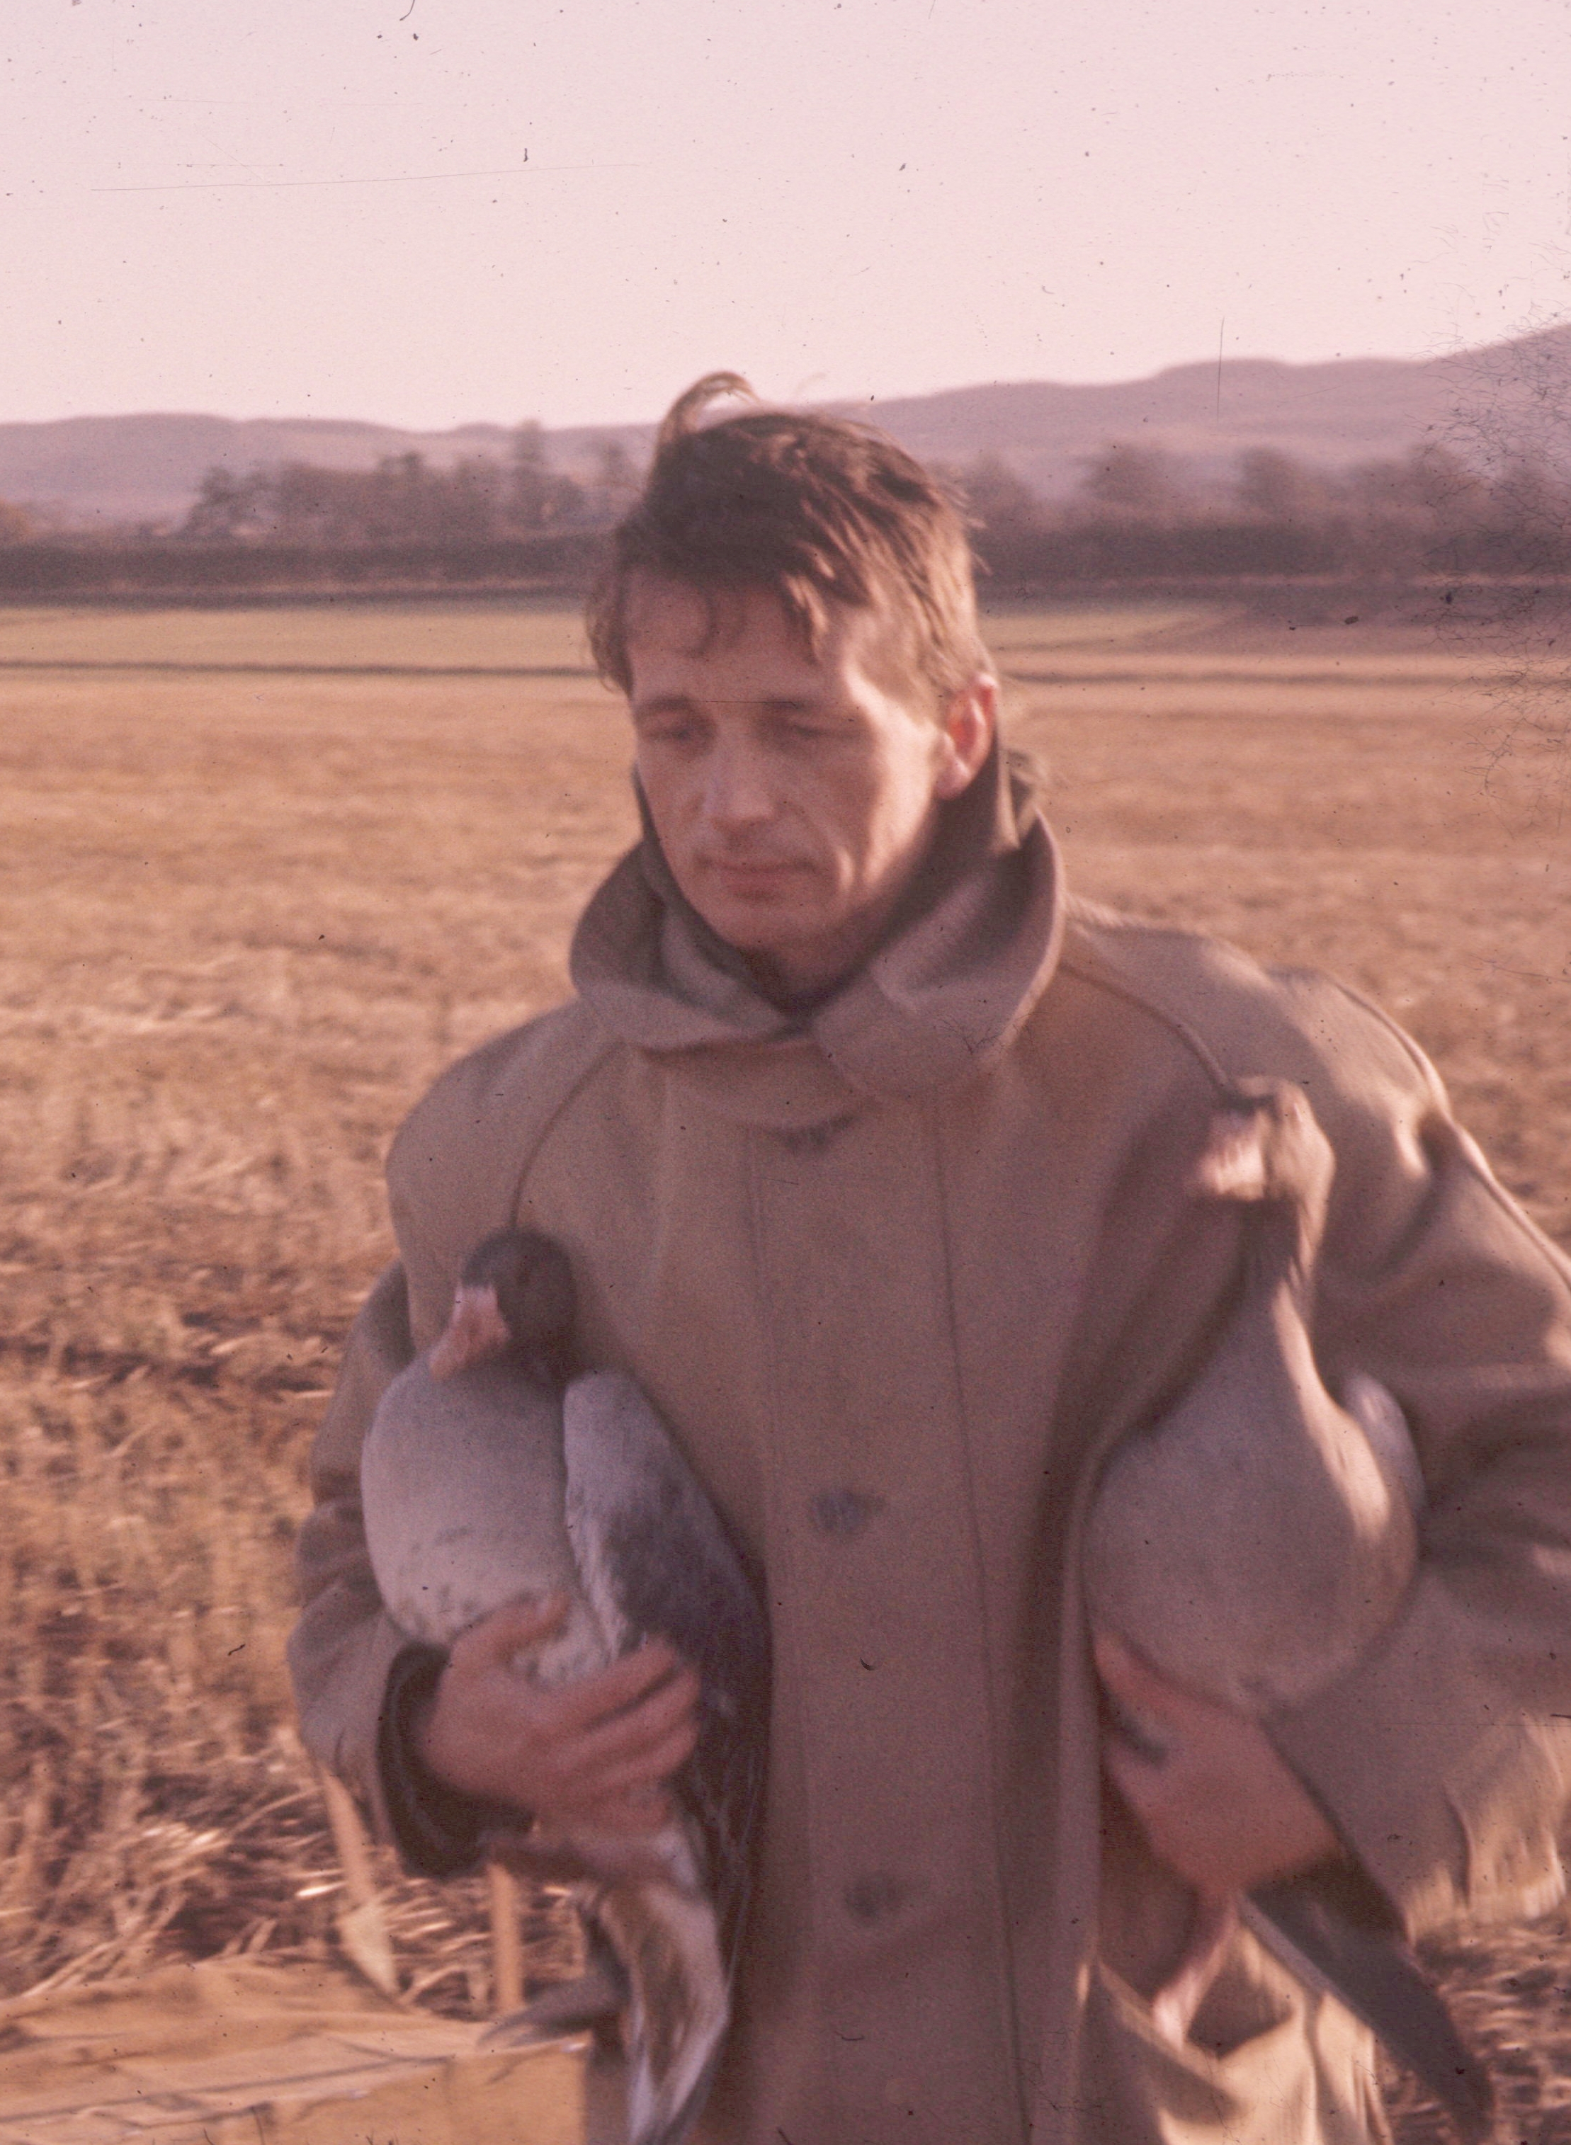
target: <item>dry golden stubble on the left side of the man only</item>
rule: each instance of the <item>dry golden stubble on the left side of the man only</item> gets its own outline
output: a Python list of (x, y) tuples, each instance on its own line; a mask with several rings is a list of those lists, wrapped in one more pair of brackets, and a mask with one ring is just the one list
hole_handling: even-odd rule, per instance
[[(560, 616), (0, 613), (0, 1424), (11, 1645), (0, 1991), (328, 1943), (290, 1727), (303, 1456), (388, 1255), (386, 1135), (562, 991), (627, 839)], [(339, 674), (182, 665), (337, 663)], [(485, 2001), (479, 1900), (401, 1885), (427, 1995)]]

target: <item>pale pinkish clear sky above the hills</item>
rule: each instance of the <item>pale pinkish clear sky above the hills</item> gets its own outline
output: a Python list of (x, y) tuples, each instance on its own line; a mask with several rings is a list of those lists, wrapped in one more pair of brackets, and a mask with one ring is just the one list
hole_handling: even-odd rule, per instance
[(0, 423), (414, 427), (1571, 313), (1571, 0), (0, 0)]

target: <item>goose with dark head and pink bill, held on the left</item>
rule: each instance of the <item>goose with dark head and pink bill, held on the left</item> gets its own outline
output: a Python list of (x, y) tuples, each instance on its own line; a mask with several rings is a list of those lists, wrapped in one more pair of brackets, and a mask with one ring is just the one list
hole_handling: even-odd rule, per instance
[[(564, 1594), (517, 1671), (560, 1686), (659, 1634), (700, 1677), (676, 1815), (648, 1836), (537, 1825), (491, 1843), (567, 1881), (592, 1971), (625, 1997), (631, 2145), (678, 2145), (730, 2023), (762, 1791), (768, 1630), (704, 1489), (637, 1384), (567, 1377), (573, 1276), (537, 1231), (489, 1236), (438, 1343), (384, 1392), (361, 1461), (371, 1570), (410, 1639), (451, 1645), (519, 1596)], [(530, 2029), (517, 2014), (491, 2029)]]

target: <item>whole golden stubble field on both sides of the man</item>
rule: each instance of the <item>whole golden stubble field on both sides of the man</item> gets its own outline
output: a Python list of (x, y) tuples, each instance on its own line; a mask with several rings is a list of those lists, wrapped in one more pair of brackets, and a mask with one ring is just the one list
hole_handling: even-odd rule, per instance
[[(1152, 605), (992, 639), (1075, 884), (1380, 997), (1571, 1244), (1547, 641)], [(575, 618), (522, 605), (0, 611), (0, 1995), (324, 1958), (305, 1448), (395, 1124), (564, 991), (633, 830), (625, 719)], [(483, 2012), (479, 1890), (384, 1877), (406, 1991)], [(1502, 2136), (1571, 2139), (1567, 1918), (1436, 1961)]]

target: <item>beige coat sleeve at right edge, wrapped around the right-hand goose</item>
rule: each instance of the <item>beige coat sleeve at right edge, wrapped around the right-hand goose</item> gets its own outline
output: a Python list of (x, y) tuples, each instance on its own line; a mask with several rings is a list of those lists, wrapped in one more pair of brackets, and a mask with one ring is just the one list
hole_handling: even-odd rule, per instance
[(1571, 1270), (1399, 1030), (1344, 1000), (1324, 1040), (1337, 1186), (1316, 1345), (1333, 1384), (1363, 1369), (1397, 1396), (1429, 1502), (1397, 1622), (1266, 1725), (1416, 1937), (1565, 1890)]

